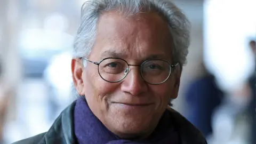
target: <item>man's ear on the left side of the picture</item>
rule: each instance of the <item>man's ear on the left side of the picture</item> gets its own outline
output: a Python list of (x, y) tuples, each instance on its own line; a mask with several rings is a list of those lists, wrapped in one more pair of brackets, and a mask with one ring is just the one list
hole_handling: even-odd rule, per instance
[(77, 93), (79, 95), (84, 95), (83, 93), (83, 64), (81, 59), (72, 59), (71, 61), (71, 72), (72, 72), (72, 78), (74, 82), (74, 86), (76, 87)]

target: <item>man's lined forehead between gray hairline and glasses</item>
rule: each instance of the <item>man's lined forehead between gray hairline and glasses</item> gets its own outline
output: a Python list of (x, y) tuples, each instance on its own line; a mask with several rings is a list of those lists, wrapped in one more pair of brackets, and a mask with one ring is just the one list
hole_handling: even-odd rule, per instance
[(115, 11), (103, 13), (97, 28), (91, 52), (94, 57), (172, 59), (173, 42), (169, 27), (155, 12), (128, 17)]

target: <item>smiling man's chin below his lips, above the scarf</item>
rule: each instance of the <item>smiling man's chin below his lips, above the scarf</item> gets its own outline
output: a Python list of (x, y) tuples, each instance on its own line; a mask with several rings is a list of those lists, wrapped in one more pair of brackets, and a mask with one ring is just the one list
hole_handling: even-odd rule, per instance
[[(126, 105), (110, 105), (108, 113), (111, 131), (124, 135), (122, 137), (138, 137), (156, 127), (160, 117), (155, 106), (133, 107)], [(126, 135), (126, 136), (125, 136)], [(136, 136), (137, 135), (137, 136)]]

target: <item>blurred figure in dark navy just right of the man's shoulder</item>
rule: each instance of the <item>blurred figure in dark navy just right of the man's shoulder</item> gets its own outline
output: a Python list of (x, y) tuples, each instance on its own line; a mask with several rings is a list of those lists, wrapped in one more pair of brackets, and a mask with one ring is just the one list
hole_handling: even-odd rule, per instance
[(223, 92), (215, 83), (215, 77), (204, 66), (203, 75), (192, 81), (186, 91), (189, 109), (188, 120), (207, 137), (212, 134), (212, 114), (223, 98)]

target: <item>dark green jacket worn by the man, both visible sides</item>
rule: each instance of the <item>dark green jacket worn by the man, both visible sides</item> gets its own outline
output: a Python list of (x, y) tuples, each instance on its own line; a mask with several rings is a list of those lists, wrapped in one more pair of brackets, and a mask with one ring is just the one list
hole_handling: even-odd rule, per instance
[[(63, 110), (48, 132), (14, 142), (13, 144), (75, 144), (76, 138), (74, 134), (73, 118), (75, 105), (76, 101)], [(201, 132), (197, 130), (194, 125), (188, 122), (186, 118), (171, 108), (169, 110), (174, 118), (174, 125), (178, 128), (182, 141), (181, 144), (207, 143)]]

